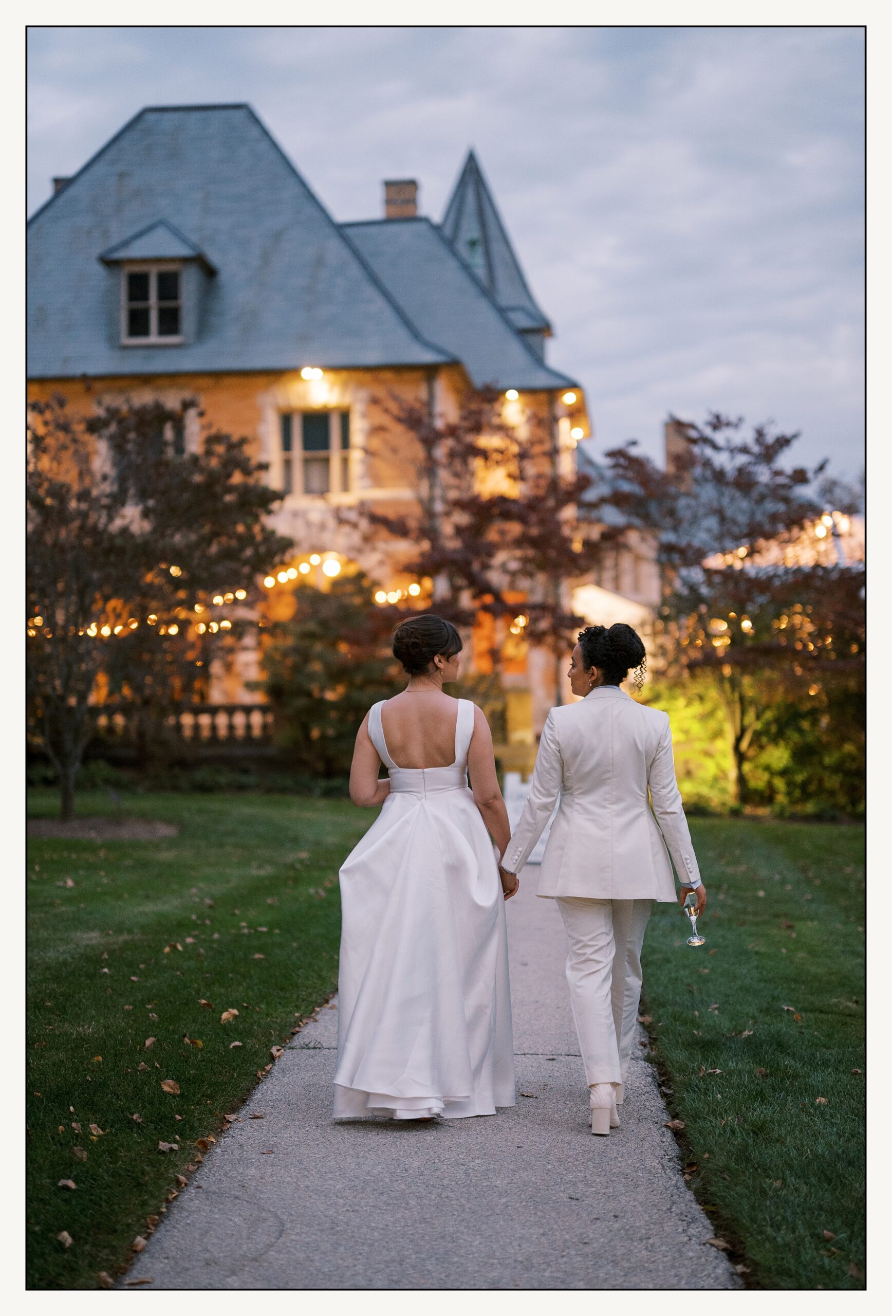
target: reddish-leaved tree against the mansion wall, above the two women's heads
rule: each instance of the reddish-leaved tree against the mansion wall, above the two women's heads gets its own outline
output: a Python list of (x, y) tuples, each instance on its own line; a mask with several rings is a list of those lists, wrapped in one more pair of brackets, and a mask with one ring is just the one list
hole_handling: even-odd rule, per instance
[(405, 571), (433, 582), (433, 607), (457, 625), (521, 615), (525, 640), (559, 649), (583, 622), (564, 587), (601, 551), (576, 520), (589, 479), (562, 468), (549, 424), (532, 417), (521, 434), (503, 404), (495, 390), (468, 392), (454, 420), (435, 421), (392, 399), (388, 415), (413, 441), (416, 501), (403, 515), (372, 504), (345, 519), (403, 547)]

